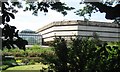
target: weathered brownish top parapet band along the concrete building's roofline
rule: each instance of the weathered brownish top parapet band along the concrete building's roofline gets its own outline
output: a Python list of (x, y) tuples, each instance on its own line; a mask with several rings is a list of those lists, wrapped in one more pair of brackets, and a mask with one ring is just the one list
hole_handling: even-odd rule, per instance
[(37, 32), (44, 31), (44, 30), (49, 29), (54, 26), (93, 26), (93, 27), (120, 28), (120, 25), (114, 24), (114, 23), (90, 21), (90, 22), (88, 22), (88, 24), (86, 24), (86, 22), (79, 21), (79, 20), (74, 21), (73, 23), (70, 23), (70, 22), (72, 22), (72, 21), (66, 21), (65, 23), (64, 23), (64, 21), (63, 22), (53, 22), (53, 23), (50, 23), (50, 24), (44, 26), (43, 28), (38, 29)]

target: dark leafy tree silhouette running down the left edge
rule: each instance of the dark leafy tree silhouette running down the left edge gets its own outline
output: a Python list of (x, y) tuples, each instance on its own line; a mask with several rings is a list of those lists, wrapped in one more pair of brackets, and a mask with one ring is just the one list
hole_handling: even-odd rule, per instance
[[(6, 7), (6, 5), (9, 7)], [(10, 11), (12, 11), (12, 13), (10, 13)], [(18, 36), (19, 30), (15, 31), (15, 29), (17, 29), (15, 26), (10, 26), (6, 23), (10, 21), (10, 18), (15, 19), (13, 13), (16, 12), (17, 10), (11, 7), (8, 2), (2, 2), (2, 24), (4, 25), (2, 28), (2, 50), (4, 47), (8, 49), (15, 48), (14, 45), (16, 45), (19, 49), (25, 51), (25, 45), (28, 44), (26, 40), (23, 40)]]

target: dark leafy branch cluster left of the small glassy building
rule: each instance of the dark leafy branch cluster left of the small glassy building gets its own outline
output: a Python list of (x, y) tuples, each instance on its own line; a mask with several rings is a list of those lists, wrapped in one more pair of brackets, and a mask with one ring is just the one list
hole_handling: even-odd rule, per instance
[(8, 49), (15, 48), (14, 45), (16, 45), (19, 49), (25, 49), (25, 45), (28, 44), (26, 40), (23, 40), (18, 36), (18, 31), (15, 31), (15, 26), (10, 26), (8, 24), (4, 24), (4, 28), (2, 29), (2, 36), (4, 37), (2, 39), (2, 50), (4, 47), (7, 47)]

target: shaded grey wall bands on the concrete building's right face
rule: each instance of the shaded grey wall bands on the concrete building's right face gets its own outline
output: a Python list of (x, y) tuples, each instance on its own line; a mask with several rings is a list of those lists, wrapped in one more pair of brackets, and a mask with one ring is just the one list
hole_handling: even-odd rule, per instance
[(79, 25), (78, 30), (78, 35), (81, 36), (93, 36), (95, 32), (103, 41), (118, 41), (120, 39), (119, 28)]

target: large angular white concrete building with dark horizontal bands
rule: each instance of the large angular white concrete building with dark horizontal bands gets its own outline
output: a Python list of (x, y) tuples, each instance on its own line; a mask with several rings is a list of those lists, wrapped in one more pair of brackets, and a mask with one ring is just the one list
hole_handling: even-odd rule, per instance
[(57, 21), (39, 28), (37, 32), (42, 35), (44, 42), (52, 41), (55, 36), (93, 37), (94, 33), (103, 41), (120, 40), (120, 25), (96, 21)]

